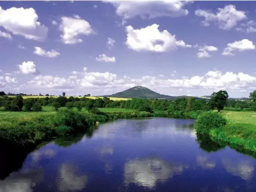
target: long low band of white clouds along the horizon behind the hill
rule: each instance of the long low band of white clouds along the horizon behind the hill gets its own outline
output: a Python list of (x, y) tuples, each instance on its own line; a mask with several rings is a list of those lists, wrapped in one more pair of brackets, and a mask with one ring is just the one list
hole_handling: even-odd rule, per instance
[[(175, 74), (175, 73), (173, 73)], [(118, 78), (115, 73), (89, 72), (83, 69), (75, 71), (72, 76), (35, 76), (28, 82), (28, 86), (40, 88), (54, 88), (58, 90), (78, 90), (86, 88), (97, 88), (104, 93), (115, 93), (134, 86), (145, 86), (156, 92), (170, 95), (184, 89), (206, 89), (206, 90), (232, 90), (240, 91), (253, 89), (256, 77), (244, 73), (233, 73), (221, 71), (208, 71), (203, 76), (173, 78), (171, 74), (166, 77), (142, 76), (136, 79), (124, 76)], [(102, 94), (102, 91), (99, 93)], [(106, 94), (108, 95), (108, 94)]]

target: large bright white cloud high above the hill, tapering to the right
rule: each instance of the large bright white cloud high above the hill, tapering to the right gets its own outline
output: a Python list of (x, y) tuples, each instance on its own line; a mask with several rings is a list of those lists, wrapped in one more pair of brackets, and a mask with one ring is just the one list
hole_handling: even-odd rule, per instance
[(182, 40), (176, 41), (175, 35), (170, 34), (167, 30), (160, 32), (158, 28), (159, 25), (157, 24), (141, 29), (127, 26), (127, 47), (135, 51), (148, 50), (154, 52), (166, 52), (177, 47), (191, 47)]

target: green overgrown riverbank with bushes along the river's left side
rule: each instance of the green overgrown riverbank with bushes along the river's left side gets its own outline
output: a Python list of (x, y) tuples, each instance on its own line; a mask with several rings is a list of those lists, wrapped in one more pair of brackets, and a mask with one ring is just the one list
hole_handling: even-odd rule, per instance
[[(104, 112), (102, 112), (104, 111)], [(196, 118), (198, 113), (156, 111), (108, 111), (100, 109), (99, 114), (87, 111), (60, 109), (58, 112), (0, 112), (0, 138), (20, 145), (36, 145), (50, 138), (75, 135), (94, 124), (112, 119), (146, 117)]]

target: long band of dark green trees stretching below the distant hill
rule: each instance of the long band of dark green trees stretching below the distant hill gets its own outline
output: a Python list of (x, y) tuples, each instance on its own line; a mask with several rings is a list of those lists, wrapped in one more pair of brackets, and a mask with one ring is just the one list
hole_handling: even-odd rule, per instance
[[(27, 98), (17, 97), (0, 97), (0, 106), (6, 111), (41, 111), (41, 106), (53, 106), (56, 111), (60, 107), (77, 108), (125, 108), (136, 109), (138, 111), (209, 111), (212, 109), (209, 101), (205, 99), (195, 99), (195, 97), (183, 97), (174, 100), (163, 99), (140, 99), (132, 98), (131, 100), (110, 100), (107, 97), (98, 99), (89, 99), (86, 97), (44, 97), (44, 98)], [(227, 100), (224, 110), (247, 110), (256, 111), (255, 102), (248, 100)]]

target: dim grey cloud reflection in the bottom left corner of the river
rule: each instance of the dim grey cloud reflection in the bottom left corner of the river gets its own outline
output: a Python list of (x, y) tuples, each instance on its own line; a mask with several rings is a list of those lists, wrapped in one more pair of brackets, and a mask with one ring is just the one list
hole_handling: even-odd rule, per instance
[(32, 192), (33, 187), (44, 179), (42, 169), (13, 173), (0, 181), (0, 192)]

